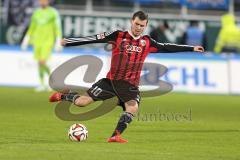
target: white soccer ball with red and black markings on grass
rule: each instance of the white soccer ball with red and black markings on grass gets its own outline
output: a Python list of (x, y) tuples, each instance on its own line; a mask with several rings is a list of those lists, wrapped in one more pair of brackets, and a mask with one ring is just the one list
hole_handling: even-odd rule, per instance
[(73, 124), (68, 131), (68, 137), (72, 141), (84, 141), (88, 137), (88, 130), (83, 124)]

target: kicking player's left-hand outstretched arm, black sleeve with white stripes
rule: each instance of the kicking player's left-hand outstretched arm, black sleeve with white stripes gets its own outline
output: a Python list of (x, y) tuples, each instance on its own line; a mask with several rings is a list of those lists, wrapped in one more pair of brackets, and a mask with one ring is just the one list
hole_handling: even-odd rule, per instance
[(101, 34), (79, 37), (79, 38), (64, 38), (61, 40), (62, 46), (79, 46), (91, 43), (107, 43), (114, 41), (117, 37), (118, 31), (104, 32)]

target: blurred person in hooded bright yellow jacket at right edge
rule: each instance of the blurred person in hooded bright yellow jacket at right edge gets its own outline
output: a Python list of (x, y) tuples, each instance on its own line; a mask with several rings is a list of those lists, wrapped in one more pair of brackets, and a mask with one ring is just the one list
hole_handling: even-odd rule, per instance
[(240, 29), (235, 23), (235, 17), (231, 14), (222, 16), (222, 28), (214, 48), (216, 53), (240, 52)]

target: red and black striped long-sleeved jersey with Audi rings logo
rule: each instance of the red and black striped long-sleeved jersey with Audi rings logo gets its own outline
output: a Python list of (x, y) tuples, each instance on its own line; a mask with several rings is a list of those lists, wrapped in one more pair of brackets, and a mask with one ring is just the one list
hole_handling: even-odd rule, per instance
[(66, 46), (89, 43), (112, 44), (110, 71), (107, 78), (125, 80), (138, 86), (144, 60), (149, 53), (193, 51), (193, 46), (158, 43), (148, 35), (133, 37), (129, 31), (104, 32), (94, 36), (66, 38)]

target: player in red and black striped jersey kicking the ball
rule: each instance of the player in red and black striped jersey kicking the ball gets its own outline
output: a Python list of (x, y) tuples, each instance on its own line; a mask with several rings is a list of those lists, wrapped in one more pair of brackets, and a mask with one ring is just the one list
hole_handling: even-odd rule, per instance
[(106, 100), (117, 96), (124, 112), (112, 136), (107, 140), (108, 142), (127, 142), (127, 140), (121, 138), (121, 134), (138, 111), (140, 102), (138, 89), (140, 73), (143, 62), (149, 53), (204, 52), (201, 46), (158, 43), (148, 35), (142, 35), (147, 27), (147, 23), (148, 15), (138, 11), (133, 14), (131, 28), (128, 31), (117, 30), (94, 36), (62, 40), (62, 45), (64, 46), (108, 42), (113, 44), (115, 42), (115, 47), (112, 49), (111, 68), (106, 78), (93, 84), (85, 95), (79, 95), (75, 92), (57, 92), (52, 94), (49, 99), (50, 102), (70, 101), (77, 106), (83, 107), (94, 101)]

